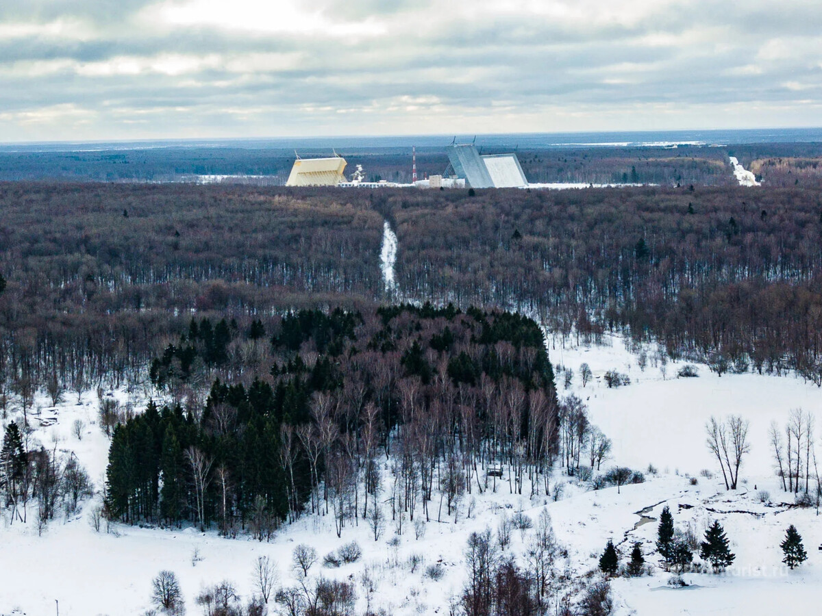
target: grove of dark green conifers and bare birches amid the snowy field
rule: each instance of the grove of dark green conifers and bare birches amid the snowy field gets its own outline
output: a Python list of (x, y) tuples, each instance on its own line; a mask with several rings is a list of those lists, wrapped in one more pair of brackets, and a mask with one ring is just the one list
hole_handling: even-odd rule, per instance
[[(210, 374), (228, 361), (231, 332), (192, 319), (152, 362), (152, 380), (168, 390)], [(263, 347), (266, 361), (249, 367), (267, 373), (247, 386), (216, 379), (202, 407), (151, 403), (114, 422), (110, 517), (262, 540), (310, 508), (333, 511), (339, 535), (353, 518), (388, 515), (381, 491), (392, 519), (448, 517), (464, 491), (487, 488), (480, 469), (491, 463), (506, 465), (499, 480), (512, 492), (527, 475), (531, 494), (543, 481), (547, 493), (561, 411), (532, 320), (430, 305), (301, 310), (271, 333), (255, 321), (238, 335)], [(380, 452), (396, 466), (393, 486), (381, 485)]]

